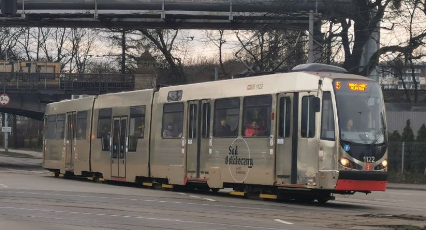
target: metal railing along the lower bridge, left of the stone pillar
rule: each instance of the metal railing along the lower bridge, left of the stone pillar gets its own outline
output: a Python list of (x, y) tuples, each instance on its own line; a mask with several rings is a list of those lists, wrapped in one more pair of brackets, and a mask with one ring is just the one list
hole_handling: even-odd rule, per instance
[(4, 91), (67, 91), (109, 93), (134, 89), (133, 74), (92, 73), (0, 73)]

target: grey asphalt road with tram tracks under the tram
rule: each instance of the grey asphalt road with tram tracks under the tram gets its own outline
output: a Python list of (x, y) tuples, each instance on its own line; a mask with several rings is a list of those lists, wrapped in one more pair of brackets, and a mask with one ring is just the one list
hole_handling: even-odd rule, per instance
[(231, 197), (229, 190), (215, 195), (55, 178), (40, 168), (41, 159), (27, 160), (0, 157), (1, 230), (426, 226), (426, 191), (388, 189), (327, 204), (273, 202)]

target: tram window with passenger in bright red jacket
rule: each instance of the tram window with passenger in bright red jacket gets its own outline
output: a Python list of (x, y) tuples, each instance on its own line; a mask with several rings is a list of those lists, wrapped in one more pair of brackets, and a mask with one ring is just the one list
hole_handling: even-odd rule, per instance
[(269, 136), (271, 132), (270, 95), (245, 97), (242, 109), (242, 136)]

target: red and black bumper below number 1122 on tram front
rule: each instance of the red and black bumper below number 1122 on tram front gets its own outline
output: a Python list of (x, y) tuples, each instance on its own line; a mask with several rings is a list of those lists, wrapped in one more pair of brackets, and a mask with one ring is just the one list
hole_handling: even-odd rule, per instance
[(335, 190), (339, 191), (384, 191), (387, 172), (339, 171)]

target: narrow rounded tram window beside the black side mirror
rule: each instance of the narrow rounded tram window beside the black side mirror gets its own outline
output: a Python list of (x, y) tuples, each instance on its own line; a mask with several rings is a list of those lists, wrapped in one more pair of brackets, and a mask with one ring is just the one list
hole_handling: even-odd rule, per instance
[(312, 138), (315, 136), (315, 108), (314, 96), (304, 96), (302, 98), (302, 121), (301, 136)]

